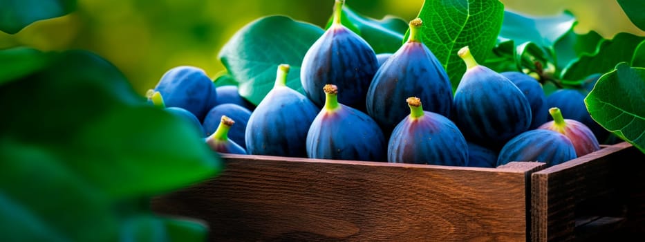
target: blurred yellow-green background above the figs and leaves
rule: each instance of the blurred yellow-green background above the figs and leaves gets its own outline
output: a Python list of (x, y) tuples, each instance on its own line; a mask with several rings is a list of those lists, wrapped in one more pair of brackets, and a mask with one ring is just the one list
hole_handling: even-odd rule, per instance
[[(645, 35), (624, 15), (615, 0), (503, 0), (507, 10), (525, 15), (557, 15), (570, 10), (583, 33), (606, 38), (617, 32)], [(236, 30), (265, 15), (287, 15), (324, 26), (333, 10), (326, 1), (79, 0), (65, 17), (37, 21), (16, 35), (0, 32), (0, 48), (32, 46), (41, 50), (82, 48), (115, 64), (142, 95), (174, 66), (203, 68), (214, 77), (223, 66), (217, 53)], [(413, 19), (421, 0), (348, 0), (362, 15)]]

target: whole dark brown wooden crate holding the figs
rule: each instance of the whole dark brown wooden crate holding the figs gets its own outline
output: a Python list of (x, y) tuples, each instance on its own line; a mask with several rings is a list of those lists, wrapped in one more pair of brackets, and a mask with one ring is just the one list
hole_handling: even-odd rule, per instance
[(549, 168), (224, 154), (222, 174), (151, 206), (205, 221), (209, 241), (572, 241), (644, 228), (639, 152), (623, 142)]

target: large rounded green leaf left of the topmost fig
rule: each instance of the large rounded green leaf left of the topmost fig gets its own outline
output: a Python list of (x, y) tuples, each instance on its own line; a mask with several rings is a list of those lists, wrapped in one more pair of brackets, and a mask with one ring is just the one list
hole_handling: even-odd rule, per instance
[(279, 64), (291, 66), (287, 86), (304, 94), (302, 59), (323, 32), (285, 16), (262, 17), (238, 30), (218, 56), (239, 82), (240, 95), (257, 105), (273, 88)]

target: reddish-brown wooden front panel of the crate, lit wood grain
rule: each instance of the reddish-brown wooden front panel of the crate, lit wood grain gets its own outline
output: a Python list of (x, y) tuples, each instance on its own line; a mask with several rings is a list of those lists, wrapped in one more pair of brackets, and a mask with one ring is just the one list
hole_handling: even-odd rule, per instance
[(209, 241), (525, 241), (527, 181), (543, 166), (223, 157), (222, 174), (153, 211), (207, 221)]

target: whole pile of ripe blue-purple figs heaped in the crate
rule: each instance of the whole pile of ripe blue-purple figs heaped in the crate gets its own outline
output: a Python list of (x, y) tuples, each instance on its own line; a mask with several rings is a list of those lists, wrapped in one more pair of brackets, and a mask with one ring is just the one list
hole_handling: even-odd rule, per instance
[(343, 4), (335, 0), (332, 24), (303, 57), (304, 93), (286, 86), (288, 63), (256, 106), (236, 86), (177, 66), (149, 101), (193, 124), (218, 153), (497, 167), (557, 165), (600, 149), (606, 134), (590, 129), (583, 103), (568, 100), (579, 96), (550, 99), (534, 77), (482, 66), (468, 46), (454, 53), (467, 69), (453, 92), (423, 42), (422, 19), (409, 22), (395, 53), (377, 55), (341, 24)]

